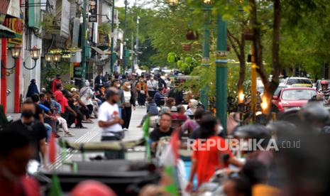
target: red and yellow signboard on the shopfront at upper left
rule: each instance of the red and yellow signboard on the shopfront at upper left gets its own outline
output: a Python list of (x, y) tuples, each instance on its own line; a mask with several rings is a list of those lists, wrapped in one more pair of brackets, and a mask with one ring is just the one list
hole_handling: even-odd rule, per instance
[(24, 21), (21, 18), (6, 18), (4, 26), (14, 31), (15, 37), (8, 38), (8, 43), (21, 45), (23, 43)]

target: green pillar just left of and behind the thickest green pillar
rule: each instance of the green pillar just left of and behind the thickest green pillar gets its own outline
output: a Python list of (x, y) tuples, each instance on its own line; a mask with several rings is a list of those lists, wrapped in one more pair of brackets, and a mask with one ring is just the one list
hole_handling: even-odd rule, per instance
[[(204, 26), (204, 40), (203, 40), (203, 59), (202, 66), (205, 66), (204, 69), (209, 69), (209, 11), (205, 11), (205, 26)], [(201, 89), (201, 98), (203, 106), (207, 110), (209, 107), (209, 97), (207, 96), (208, 87), (204, 86)]]

